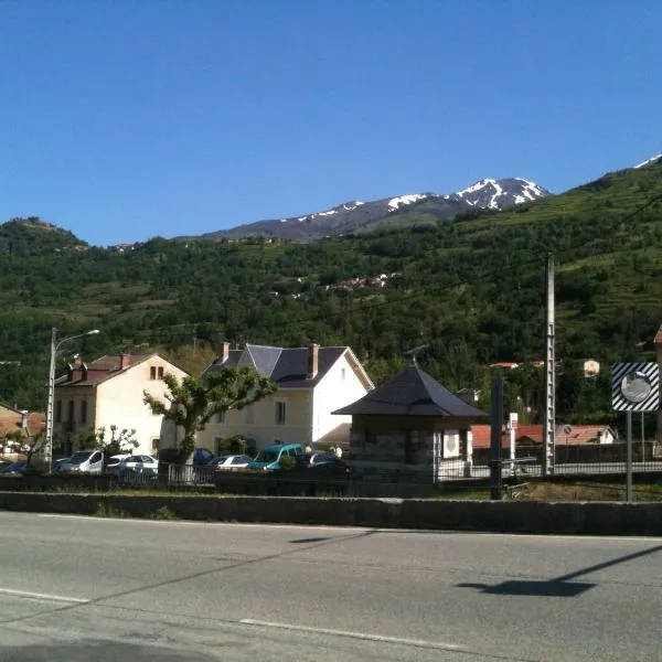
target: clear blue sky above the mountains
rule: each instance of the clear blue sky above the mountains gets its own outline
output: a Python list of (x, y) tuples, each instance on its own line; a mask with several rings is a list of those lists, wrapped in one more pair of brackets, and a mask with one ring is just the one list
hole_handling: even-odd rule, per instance
[(658, 0), (4, 0), (0, 222), (98, 245), (662, 152)]

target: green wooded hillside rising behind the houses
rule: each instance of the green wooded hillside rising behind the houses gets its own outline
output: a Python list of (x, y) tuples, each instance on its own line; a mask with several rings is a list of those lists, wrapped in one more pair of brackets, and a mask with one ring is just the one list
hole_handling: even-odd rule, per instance
[[(424, 201), (389, 222), (308, 245), (156, 238), (127, 253), (36, 220), (4, 224), (0, 361), (21, 366), (0, 364), (0, 399), (43, 408), (52, 324), (64, 334), (99, 328), (72, 348), (88, 356), (221, 339), (346, 343), (376, 380), (429, 343), (425, 366), (450, 387), (472, 386), (485, 364), (543, 356), (549, 250), (559, 359), (645, 356), (636, 344), (662, 321), (662, 164), (511, 212), (437, 223)], [(339, 287), (380, 274), (386, 287)]]

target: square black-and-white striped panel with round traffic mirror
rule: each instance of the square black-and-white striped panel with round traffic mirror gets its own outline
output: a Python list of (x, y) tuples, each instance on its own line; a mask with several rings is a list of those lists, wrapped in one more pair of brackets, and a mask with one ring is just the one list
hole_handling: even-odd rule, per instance
[(656, 412), (660, 371), (656, 363), (615, 363), (611, 366), (611, 406), (616, 412)]

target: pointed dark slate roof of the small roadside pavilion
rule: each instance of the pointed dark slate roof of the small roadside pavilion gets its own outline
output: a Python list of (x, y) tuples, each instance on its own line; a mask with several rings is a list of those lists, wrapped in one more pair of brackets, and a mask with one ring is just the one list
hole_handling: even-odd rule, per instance
[(467, 404), (416, 365), (405, 367), (355, 403), (333, 414), (377, 416), (448, 416), (484, 418), (487, 414)]

